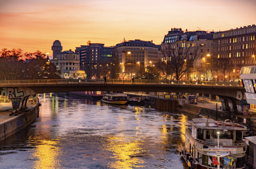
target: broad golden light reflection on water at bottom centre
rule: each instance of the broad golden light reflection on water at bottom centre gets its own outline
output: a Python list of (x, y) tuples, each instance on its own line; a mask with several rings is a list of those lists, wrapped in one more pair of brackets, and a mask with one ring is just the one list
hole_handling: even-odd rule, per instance
[(147, 151), (142, 149), (145, 141), (132, 140), (133, 137), (109, 136), (107, 144), (102, 146), (103, 151), (110, 151), (115, 159), (108, 163), (109, 168), (132, 169), (134, 167), (145, 167), (144, 160), (140, 157), (147, 156)]

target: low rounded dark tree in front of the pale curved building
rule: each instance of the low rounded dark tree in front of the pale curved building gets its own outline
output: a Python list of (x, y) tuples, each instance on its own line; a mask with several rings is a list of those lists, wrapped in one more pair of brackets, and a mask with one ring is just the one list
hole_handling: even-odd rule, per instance
[(147, 80), (154, 80), (159, 79), (159, 70), (156, 67), (147, 66), (146, 68), (141, 68), (137, 72), (136, 79), (147, 79)]

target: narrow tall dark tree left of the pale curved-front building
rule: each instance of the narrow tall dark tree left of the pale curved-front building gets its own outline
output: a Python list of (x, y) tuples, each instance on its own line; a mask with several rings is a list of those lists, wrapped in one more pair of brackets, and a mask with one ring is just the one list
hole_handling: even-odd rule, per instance
[(118, 79), (120, 71), (121, 68), (118, 61), (118, 51), (113, 49), (113, 55), (110, 63), (110, 79)]

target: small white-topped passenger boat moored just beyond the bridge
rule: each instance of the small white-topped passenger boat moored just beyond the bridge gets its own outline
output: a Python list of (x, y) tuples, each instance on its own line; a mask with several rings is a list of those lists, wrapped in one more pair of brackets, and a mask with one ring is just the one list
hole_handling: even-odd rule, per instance
[(109, 104), (124, 105), (128, 102), (128, 99), (127, 94), (124, 93), (103, 92), (101, 101)]

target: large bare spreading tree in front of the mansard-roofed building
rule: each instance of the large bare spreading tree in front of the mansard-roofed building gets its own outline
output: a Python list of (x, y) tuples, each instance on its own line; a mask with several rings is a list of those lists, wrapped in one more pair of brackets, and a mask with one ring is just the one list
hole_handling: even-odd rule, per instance
[[(199, 46), (193, 46), (187, 41), (176, 42), (166, 49), (162, 49), (162, 56), (167, 62), (167, 68), (172, 69), (176, 80), (180, 80), (193, 64), (199, 61)], [(186, 60), (186, 62), (185, 62)]]

